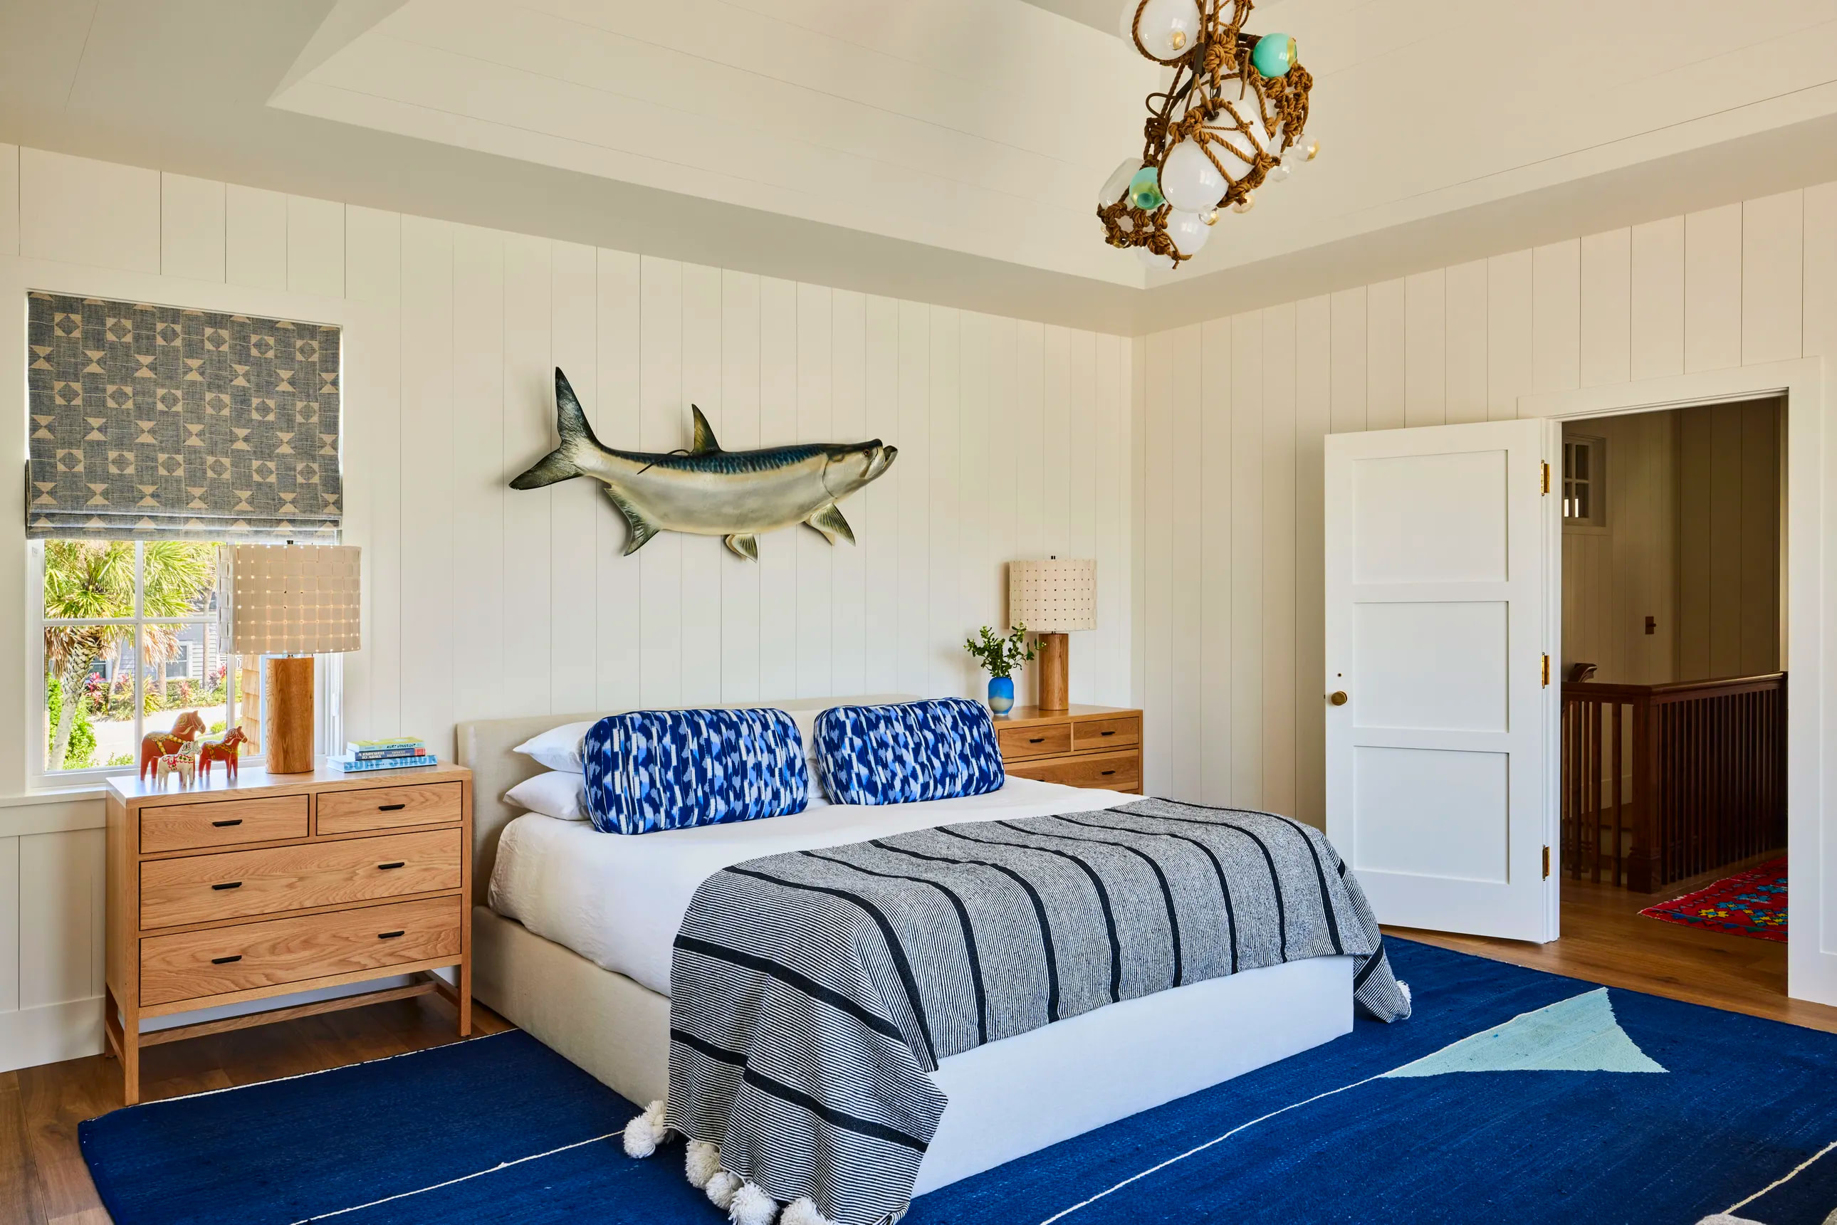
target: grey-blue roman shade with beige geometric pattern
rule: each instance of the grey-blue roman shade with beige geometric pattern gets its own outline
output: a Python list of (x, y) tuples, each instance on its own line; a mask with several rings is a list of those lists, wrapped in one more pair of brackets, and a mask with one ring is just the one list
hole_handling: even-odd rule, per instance
[(28, 296), (28, 536), (338, 538), (338, 329)]

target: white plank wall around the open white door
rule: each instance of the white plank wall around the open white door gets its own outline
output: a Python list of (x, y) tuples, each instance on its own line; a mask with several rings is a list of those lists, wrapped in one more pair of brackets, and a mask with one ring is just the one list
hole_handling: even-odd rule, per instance
[(1148, 790), (1324, 823), (1324, 433), (1813, 354), (1837, 184), (1135, 340)]

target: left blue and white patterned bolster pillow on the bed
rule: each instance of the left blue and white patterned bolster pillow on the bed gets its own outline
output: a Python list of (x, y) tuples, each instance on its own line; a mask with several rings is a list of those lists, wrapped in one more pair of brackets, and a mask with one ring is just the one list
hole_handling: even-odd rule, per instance
[(810, 773), (784, 711), (630, 711), (582, 746), (601, 834), (654, 834), (803, 812)]

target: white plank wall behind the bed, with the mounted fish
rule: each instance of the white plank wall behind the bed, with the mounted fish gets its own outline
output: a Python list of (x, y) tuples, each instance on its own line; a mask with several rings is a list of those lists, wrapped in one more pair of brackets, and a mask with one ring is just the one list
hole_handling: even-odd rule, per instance
[[(230, 285), (301, 318), (362, 307), (371, 334), (345, 371), (367, 569), (351, 735), (450, 751), (467, 718), (975, 694), (961, 643), (1005, 624), (1003, 564), (1045, 553), (1099, 558), (1102, 628), (1076, 635), (1073, 698), (1130, 702), (1122, 338), (0, 145), (13, 257), (51, 281), (143, 274), (178, 305)], [(762, 538), (757, 566), (676, 534), (621, 556), (625, 523), (588, 481), (505, 487), (553, 444), (555, 365), (614, 446), (685, 446), (694, 402), (731, 450), (878, 435), (900, 459), (843, 503), (856, 547), (795, 529)], [(9, 505), (22, 459), (0, 476)], [(22, 584), (15, 520), (0, 641), (24, 641)], [(17, 654), (0, 652), (0, 691), (31, 683)], [(24, 795), (24, 753), (0, 738), (0, 1067), (101, 1047), (101, 803)]]

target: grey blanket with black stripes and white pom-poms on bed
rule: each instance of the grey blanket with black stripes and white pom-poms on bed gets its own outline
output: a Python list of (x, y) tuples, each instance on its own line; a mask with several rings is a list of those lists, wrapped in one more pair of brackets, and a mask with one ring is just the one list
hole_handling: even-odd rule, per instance
[(718, 1150), (729, 1197), (744, 1179), (770, 1210), (810, 1201), (786, 1219), (895, 1221), (944, 1113), (939, 1060), (1335, 953), (1369, 1014), (1409, 1016), (1332, 845), (1257, 812), (1144, 799), (751, 860), (676, 937), (665, 1122), (700, 1142), (693, 1181)]

